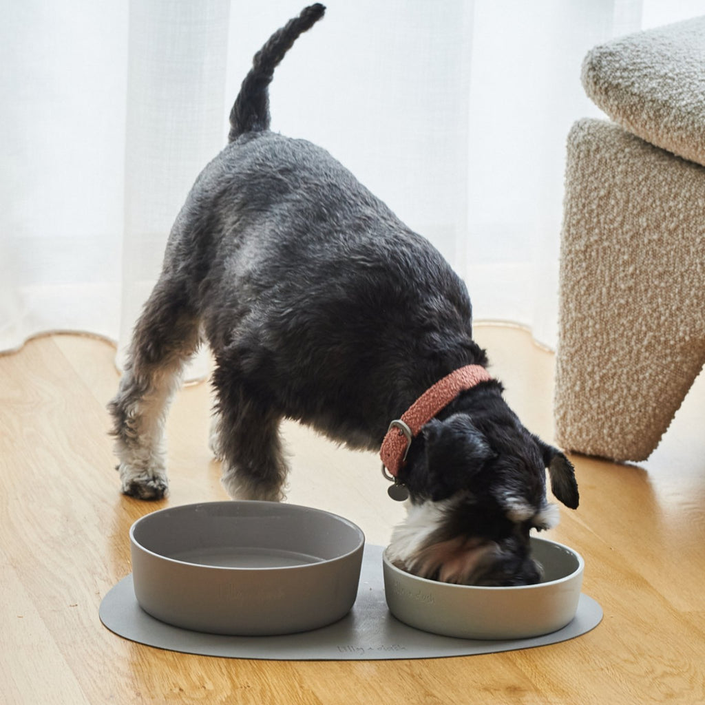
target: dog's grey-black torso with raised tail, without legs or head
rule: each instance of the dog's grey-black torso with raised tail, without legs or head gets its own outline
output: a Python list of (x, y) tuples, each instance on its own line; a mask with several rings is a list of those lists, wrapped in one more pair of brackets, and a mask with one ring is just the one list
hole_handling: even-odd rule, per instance
[[(465, 285), (431, 243), (325, 149), (269, 130), (274, 68), (323, 13), (305, 8), (255, 55), (230, 143), (170, 249), (227, 370), (216, 382), (237, 368), (288, 417), (374, 448), (419, 387), (484, 353)], [(423, 361), (413, 372), (410, 357)]]

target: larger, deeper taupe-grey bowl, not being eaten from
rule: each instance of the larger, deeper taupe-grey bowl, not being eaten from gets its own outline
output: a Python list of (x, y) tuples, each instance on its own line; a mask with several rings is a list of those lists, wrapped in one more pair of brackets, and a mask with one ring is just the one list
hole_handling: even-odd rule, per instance
[(353, 522), (276, 502), (171, 507), (130, 529), (142, 609), (213, 634), (292, 634), (343, 618), (357, 596), (363, 547)]

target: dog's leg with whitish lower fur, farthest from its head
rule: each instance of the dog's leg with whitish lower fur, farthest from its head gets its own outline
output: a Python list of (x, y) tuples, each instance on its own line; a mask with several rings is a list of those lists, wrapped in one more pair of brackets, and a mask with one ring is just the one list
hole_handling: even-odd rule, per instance
[(200, 343), (199, 320), (186, 301), (183, 285), (162, 276), (137, 321), (120, 388), (108, 407), (122, 490), (140, 499), (160, 499), (168, 486), (166, 412)]

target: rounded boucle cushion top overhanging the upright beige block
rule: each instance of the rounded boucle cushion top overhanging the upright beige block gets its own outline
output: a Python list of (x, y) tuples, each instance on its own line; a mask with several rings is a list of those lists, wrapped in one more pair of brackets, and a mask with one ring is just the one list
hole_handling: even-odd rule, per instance
[(705, 165), (705, 17), (595, 47), (582, 84), (631, 133)]

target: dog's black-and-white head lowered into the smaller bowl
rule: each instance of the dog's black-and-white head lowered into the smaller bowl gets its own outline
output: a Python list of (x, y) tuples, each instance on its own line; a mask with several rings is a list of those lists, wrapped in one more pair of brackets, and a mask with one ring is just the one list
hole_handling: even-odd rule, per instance
[(546, 469), (553, 494), (577, 508), (568, 458), (530, 434), (498, 396), (472, 414), (431, 419), (412, 449), (400, 473), (410, 498), (388, 548), (393, 563), (441, 582), (539, 582), (529, 531), (558, 523), (558, 507), (546, 501)]

